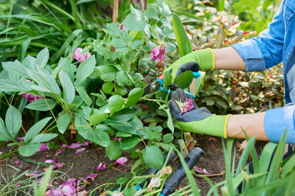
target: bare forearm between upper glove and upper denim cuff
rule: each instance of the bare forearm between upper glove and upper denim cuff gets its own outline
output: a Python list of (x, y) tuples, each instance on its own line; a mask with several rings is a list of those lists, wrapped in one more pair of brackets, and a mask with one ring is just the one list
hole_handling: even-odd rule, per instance
[(232, 47), (212, 49), (215, 56), (215, 69), (246, 71), (245, 61)]

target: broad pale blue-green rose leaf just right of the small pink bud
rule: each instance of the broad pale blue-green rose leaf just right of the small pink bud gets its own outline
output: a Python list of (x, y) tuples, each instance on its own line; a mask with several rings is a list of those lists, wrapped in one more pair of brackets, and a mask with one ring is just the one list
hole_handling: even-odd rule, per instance
[(142, 11), (134, 9), (131, 4), (130, 10), (131, 14), (129, 14), (124, 20), (124, 27), (127, 30), (142, 31), (148, 23), (148, 19)]

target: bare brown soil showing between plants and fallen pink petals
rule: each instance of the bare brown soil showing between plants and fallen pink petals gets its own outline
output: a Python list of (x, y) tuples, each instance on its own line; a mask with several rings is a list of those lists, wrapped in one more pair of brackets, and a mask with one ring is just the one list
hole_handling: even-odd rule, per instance
[[(215, 141), (216, 140), (216, 141)], [(206, 170), (210, 174), (220, 174), (224, 171), (224, 155), (223, 155), (223, 149), (222, 149), (222, 142), (220, 138), (215, 137), (209, 137), (209, 136), (201, 136), (198, 135), (198, 144), (199, 147), (202, 148), (205, 152), (205, 155), (199, 160), (199, 162), (196, 164), (197, 167), (206, 168)], [(263, 146), (266, 143), (264, 142), (257, 142), (255, 144), (255, 148), (257, 150), (257, 153), (260, 154), (260, 148), (263, 148)], [(3, 153), (8, 153), (11, 147), (3, 146), (0, 148), (0, 151)], [(237, 147), (237, 143), (234, 142), (234, 146), (232, 148), (233, 150), (236, 150), (236, 159), (235, 159), (235, 166), (237, 166), (237, 163), (240, 159), (240, 153), (238, 152), (239, 147)], [(113, 161), (110, 161), (109, 158), (105, 156), (103, 147), (95, 147), (94, 145), (90, 145), (89, 147), (86, 147), (86, 150), (82, 153), (74, 154), (75, 149), (66, 149), (64, 154), (57, 155), (55, 157), (56, 162), (63, 162), (67, 163), (64, 168), (60, 169), (63, 172), (67, 172), (68, 177), (70, 178), (79, 178), (79, 177), (87, 177), (91, 173), (98, 173), (99, 175), (95, 178), (94, 182), (91, 182), (89, 186), (86, 187), (86, 191), (89, 193), (93, 189), (93, 187), (97, 185), (104, 184), (106, 180), (118, 177), (120, 175), (123, 175), (125, 173), (129, 173), (131, 170), (132, 164), (136, 161), (135, 159), (131, 158), (131, 155), (127, 152), (123, 152), (122, 156), (126, 157), (128, 159), (128, 162), (124, 166), (119, 165), (112, 165), (114, 163)], [(46, 159), (53, 158), (55, 154), (55, 151), (50, 150), (48, 152), (43, 151), (36, 153), (35, 155), (30, 157), (30, 160), (33, 161), (42, 161)], [(232, 152), (233, 155), (233, 152)], [(46, 156), (46, 157), (44, 157)], [(19, 164), (15, 164), (15, 161), (18, 160)], [(45, 166), (40, 166), (37, 168), (36, 164), (27, 163), (20, 159), (17, 155), (14, 155), (13, 157), (6, 158), (3, 160), (0, 160), (0, 165), (6, 164), (6, 161), (8, 161), (9, 165), (12, 165), (18, 169), (21, 170), (21, 172), (24, 172), (26, 170), (36, 170), (42, 171)], [(106, 165), (111, 165), (108, 169), (106, 168), (103, 171), (97, 171), (96, 167), (102, 163), (105, 162)], [(179, 160), (173, 161), (170, 166), (175, 169), (179, 165)], [(73, 164), (73, 167), (70, 169), (71, 165)], [(6, 168), (4, 166), (1, 166), (2, 172), (5, 172)], [(12, 177), (15, 173), (15, 170), (9, 168), (9, 175)], [(69, 170), (69, 171), (68, 171)], [(20, 174), (20, 173), (19, 173)], [(196, 183), (199, 189), (201, 189), (201, 195), (207, 195), (207, 192), (210, 189), (210, 186), (206, 180), (203, 178), (196, 177)], [(2, 181), (3, 179), (1, 179)], [(210, 177), (210, 180), (213, 184), (218, 183), (220, 181), (225, 180), (225, 176), (219, 175)], [(3, 182), (3, 181), (2, 181)], [(181, 182), (181, 187), (184, 187), (188, 185), (188, 180), (185, 178)], [(99, 195), (103, 189), (97, 190), (95, 195)]]

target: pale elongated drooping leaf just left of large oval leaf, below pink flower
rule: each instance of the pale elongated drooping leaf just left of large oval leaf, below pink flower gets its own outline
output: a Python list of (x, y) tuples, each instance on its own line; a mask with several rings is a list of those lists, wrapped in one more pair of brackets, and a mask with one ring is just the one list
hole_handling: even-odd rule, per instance
[(70, 77), (63, 70), (59, 72), (58, 76), (63, 86), (63, 99), (67, 103), (72, 103), (75, 98), (75, 88)]

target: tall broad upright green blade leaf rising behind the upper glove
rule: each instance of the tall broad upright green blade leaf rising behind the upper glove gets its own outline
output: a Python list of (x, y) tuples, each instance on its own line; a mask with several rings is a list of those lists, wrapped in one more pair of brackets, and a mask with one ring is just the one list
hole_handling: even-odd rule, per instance
[(172, 14), (172, 24), (180, 56), (185, 56), (186, 54), (191, 53), (193, 51), (191, 49), (191, 43), (189, 42), (183, 24), (176, 13)]

